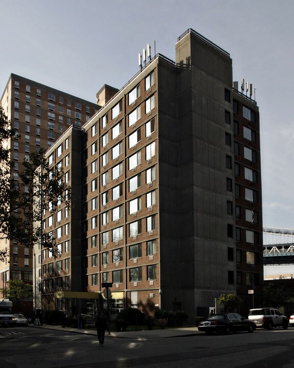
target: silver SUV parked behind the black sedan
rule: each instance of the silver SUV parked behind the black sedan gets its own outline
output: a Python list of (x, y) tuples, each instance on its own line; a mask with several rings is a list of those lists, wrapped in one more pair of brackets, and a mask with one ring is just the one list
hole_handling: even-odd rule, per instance
[(288, 328), (288, 319), (275, 308), (250, 309), (248, 319), (252, 320), (257, 328), (273, 330), (274, 327)]

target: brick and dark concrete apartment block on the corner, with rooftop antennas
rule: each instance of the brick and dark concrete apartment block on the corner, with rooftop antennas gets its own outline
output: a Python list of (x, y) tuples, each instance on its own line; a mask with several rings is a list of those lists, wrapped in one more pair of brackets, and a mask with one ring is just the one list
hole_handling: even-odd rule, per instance
[(223, 293), (238, 294), (243, 313), (252, 292), (261, 303), (259, 111), (233, 88), (230, 55), (189, 29), (176, 62), (157, 54), (97, 101), (47, 152), (72, 202), (44, 215), (61, 253), (39, 249), (43, 308), (87, 312), (103, 283), (116, 312), (205, 315)]

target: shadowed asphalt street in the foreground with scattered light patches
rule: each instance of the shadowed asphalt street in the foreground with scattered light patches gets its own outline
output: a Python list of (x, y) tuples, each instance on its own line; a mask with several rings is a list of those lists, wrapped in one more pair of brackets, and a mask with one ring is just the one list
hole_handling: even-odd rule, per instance
[(116, 338), (34, 327), (0, 328), (3, 368), (292, 368), (294, 329), (169, 338)]

